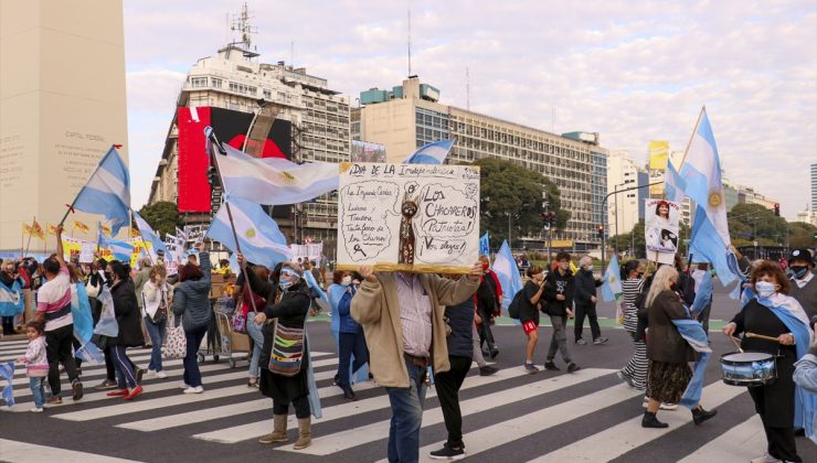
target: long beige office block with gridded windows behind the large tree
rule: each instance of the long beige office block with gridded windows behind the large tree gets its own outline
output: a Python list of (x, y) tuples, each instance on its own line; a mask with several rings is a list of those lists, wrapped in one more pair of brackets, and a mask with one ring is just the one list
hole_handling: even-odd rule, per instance
[(361, 108), (352, 110), (353, 134), (384, 144), (389, 162), (402, 162), (432, 141), (454, 139), (452, 162), (494, 157), (540, 172), (559, 185), (562, 207), (572, 214), (554, 239), (570, 240), (577, 250), (597, 247), (607, 185), (607, 150), (597, 133), (559, 136), (438, 100), (439, 90), (416, 76), (391, 90), (362, 91)]

